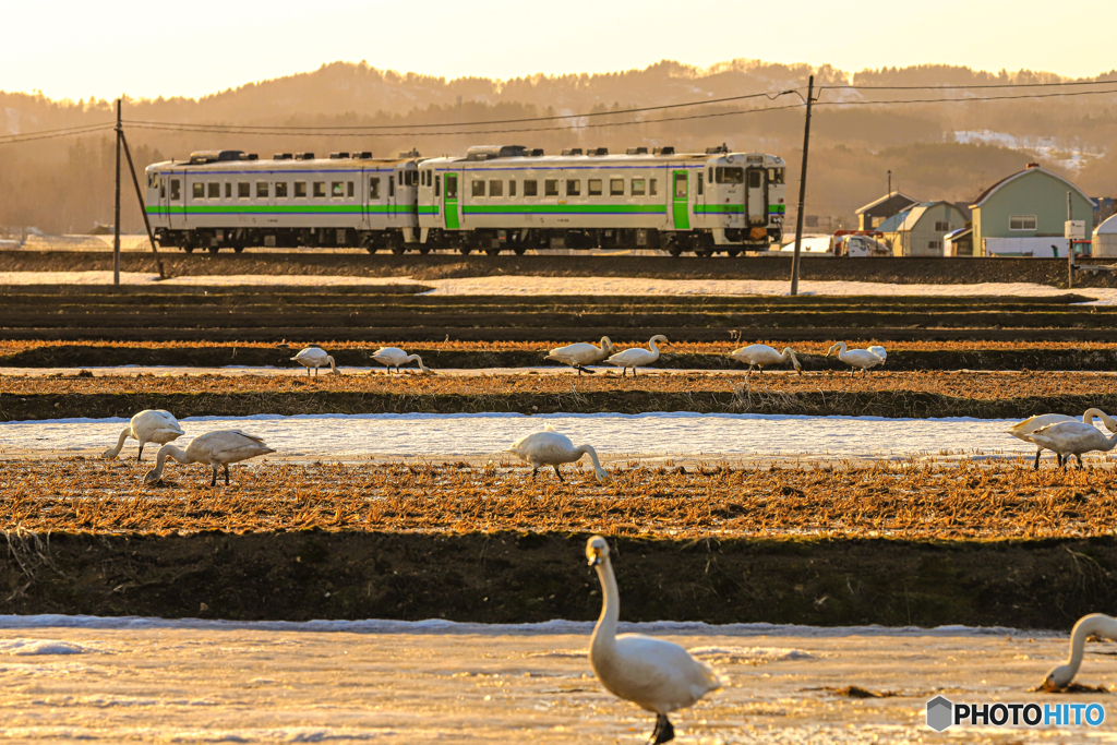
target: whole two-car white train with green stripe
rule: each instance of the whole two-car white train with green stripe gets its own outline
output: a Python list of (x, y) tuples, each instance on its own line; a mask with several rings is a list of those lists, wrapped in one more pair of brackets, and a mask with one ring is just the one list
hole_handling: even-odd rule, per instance
[(766, 250), (783, 237), (783, 159), (674, 147), (604, 147), (546, 155), (479, 145), (465, 155), (198, 151), (146, 169), (156, 240), (192, 252), (248, 247)]

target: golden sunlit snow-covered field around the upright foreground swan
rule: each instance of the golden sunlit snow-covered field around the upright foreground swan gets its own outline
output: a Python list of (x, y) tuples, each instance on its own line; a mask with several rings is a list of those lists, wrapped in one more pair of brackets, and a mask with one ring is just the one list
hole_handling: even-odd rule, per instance
[[(569, 622), (0, 617), (0, 739), (642, 743), (653, 717), (593, 678), (590, 630)], [(1025, 693), (1065, 655), (1066, 637), (958, 627), (637, 630), (691, 649), (726, 681), (672, 716), (682, 745), (945, 742), (924, 724), (926, 701), (938, 694), (955, 701), (1068, 700)], [(1114, 657), (1087, 655), (1086, 681), (1115, 675)], [(837, 693), (851, 685), (895, 695)], [(1110, 726), (954, 727), (948, 735), (952, 743), (1117, 739)]]

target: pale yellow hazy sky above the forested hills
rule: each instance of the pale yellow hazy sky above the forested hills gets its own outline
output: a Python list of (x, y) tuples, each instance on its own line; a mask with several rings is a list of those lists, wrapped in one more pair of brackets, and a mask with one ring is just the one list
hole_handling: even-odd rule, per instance
[[(199, 97), (323, 64), (446, 78), (639, 69), (662, 59), (949, 64), (1085, 77), (1117, 67), (1117, 4), (1051, 0), (12, 0), (0, 90), (50, 98)], [(681, 16), (681, 17), (680, 17)]]

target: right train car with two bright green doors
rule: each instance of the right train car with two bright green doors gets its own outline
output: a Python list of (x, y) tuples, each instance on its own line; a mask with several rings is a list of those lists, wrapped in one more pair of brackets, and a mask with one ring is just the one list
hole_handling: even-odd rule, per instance
[(783, 159), (672, 147), (470, 147), (419, 163), (419, 242), (462, 254), (658, 248), (678, 256), (765, 250), (783, 236)]

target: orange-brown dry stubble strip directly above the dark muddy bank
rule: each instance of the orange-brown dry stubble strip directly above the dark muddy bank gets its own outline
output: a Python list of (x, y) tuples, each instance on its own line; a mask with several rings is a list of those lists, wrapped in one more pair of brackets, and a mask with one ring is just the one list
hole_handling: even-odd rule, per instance
[(1022, 464), (804, 469), (631, 468), (599, 485), (585, 469), (443, 465), (233, 467), (70, 458), (0, 466), (0, 524), (55, 532), (599, 531), (610, 535), (1035, 538), (1117, 529), (1109, 470)]

